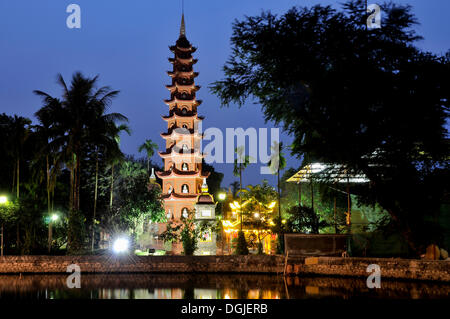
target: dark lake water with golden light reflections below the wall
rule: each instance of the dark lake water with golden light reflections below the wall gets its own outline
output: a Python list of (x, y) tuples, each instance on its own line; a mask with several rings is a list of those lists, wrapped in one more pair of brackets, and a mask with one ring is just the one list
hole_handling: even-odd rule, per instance
[(81, 275), (69, 289), (67, 275), (0, 275), (1, 299), (444, 299), (450, 284), (365, 278), (287, 277), (236, 274)]

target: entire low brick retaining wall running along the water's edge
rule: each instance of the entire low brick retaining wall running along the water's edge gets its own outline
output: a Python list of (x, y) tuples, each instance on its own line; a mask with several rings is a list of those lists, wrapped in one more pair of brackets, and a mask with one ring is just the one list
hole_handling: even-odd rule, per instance
[[(450, 261), (399, 258), (249, 256), (4, 256), (0, 273), (66, 273), (77, 264), (82, 273), (283, 273), (309, 276), (367, 277), (377, 264), (383, 278), (450, 282)], [(286, 267), (285, 267), (286, 266)]]

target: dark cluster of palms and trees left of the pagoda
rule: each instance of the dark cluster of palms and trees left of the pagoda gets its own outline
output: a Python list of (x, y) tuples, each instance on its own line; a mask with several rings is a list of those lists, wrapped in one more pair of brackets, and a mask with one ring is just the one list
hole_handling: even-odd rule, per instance
[[(93, 250), (102, 227), (125, 230), (144, 215), (163, 215), (159, 189), (146, 187), (150, 162), (120, 150), (120, 133), (130, 133), (128, 120), (108, 113), (119, 91), (97, 88), (98, 76), (79, 72), (70, 85), (61, 75), (57, 81), (61, 97), (34, 91), (43, 101), (37, 125), (0, 114), (0, 193), (8, 195), (0, 222), (9, 254), (44, 252), (53, 214), (60, 219), (50, 248), (69, 253)], [(126, 197), (131, 195), (133, 201)]]

